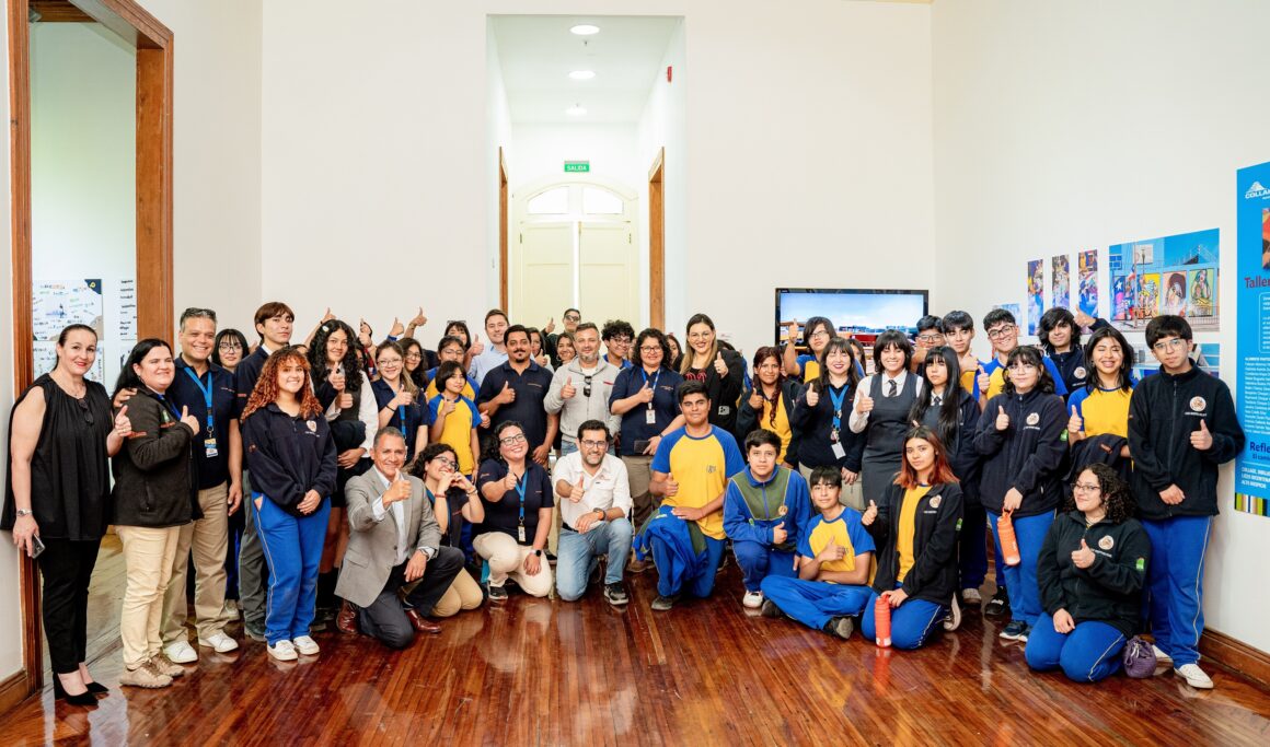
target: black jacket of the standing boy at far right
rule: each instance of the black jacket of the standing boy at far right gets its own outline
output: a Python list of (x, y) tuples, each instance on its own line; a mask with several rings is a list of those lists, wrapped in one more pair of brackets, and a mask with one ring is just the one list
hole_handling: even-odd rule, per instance
[[(1208, 425), (1213, 446), (1200, 451), (1190, 435)], [(1133, 496), (1142, 519), (1217, 514), (1217, 467), (1243, 450), (1243, 429), (1231, 389), (1195, 365), (1184, 374), (1161, 370), (1142, 379), (1129, 399)], [(1186, 496), (1170, 506), (1160, 491), (1176, 484)]]

